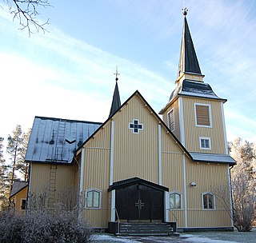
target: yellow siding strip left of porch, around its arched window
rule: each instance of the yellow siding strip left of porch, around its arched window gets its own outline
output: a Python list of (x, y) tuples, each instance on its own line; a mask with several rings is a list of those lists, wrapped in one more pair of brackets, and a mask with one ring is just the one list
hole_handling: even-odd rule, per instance
[[(106, 228), (109, 218), (110, 199), (110, 122), (86, 143), (84, 160), (84, 181), (82, 192), (82, 213), (91, 227)], [(87, 189), (101, 191), (100, 209), (86, 209)]]

